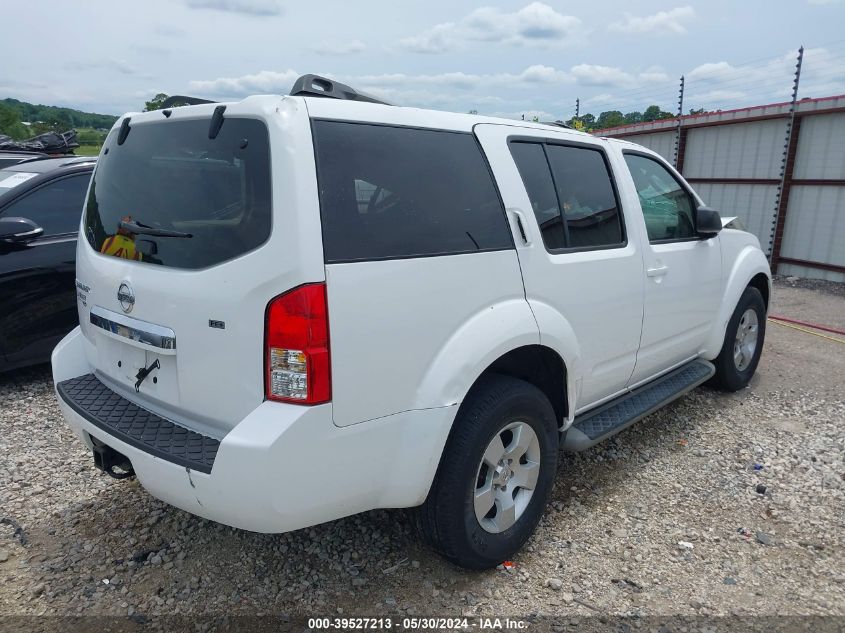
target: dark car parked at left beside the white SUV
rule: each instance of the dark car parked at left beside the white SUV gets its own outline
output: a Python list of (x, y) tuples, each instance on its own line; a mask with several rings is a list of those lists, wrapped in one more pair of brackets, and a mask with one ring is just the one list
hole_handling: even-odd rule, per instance
[(38, 156), (0, 168), (0, 371), (49, 361), (78, 323), (76, 235), (95, 162)]

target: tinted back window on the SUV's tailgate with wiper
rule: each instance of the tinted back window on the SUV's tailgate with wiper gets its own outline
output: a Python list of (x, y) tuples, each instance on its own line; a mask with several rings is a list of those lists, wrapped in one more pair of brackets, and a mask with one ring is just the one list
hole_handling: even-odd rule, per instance
[(270, 235), (266, 126), (225, 118), (131, 125), (106, 140), (86, 204), (85, 237), (104, 255), (174, 268), (206, 268)]

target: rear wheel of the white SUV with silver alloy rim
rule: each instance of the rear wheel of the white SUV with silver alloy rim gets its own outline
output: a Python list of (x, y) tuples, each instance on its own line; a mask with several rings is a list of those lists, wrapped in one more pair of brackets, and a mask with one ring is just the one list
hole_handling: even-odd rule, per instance
[[(499, 457), (497, 437), (504, 449), (498, 470), (491, 466)], [(488, 569), (510, 558), (545, 509), (557, 471), (558, 441), (554, 409), (542, 391), (509, 376), (483, 378), (461, 405), (428, 498), (417, 510), (424, 540), (467, 569)], [(491, 506), (481, 520), (476, 492), (484, 493), (481, 512), (488, 502)]]

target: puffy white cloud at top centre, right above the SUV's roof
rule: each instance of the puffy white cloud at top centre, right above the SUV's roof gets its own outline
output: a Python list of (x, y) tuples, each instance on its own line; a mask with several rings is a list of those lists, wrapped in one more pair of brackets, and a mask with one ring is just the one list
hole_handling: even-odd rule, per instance
[(443, 53), (466, 42), (495, 42), (511, 46), (553, 45), (572, 41), (582, 32), (581, 20), (558, 13), (542, 2), (518, 11), (481, 7), (457, 22), (437, 24), (418, 35), (399, 40), (400, 48), (414, 53)]

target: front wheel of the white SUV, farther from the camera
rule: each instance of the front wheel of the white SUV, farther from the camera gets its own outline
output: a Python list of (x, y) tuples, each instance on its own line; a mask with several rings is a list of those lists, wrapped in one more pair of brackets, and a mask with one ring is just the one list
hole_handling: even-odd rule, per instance
[[(755, 337), (753, 350), (749, 338), (752, 335)], [(725, 330), (722, 351), (713, 361), (716, 366), (713, 385), (724, 391), (739, 391), (745, 387), (757, 370), (765, 338), (766, 304), (760, 291), (749, 286), (739, 298)]]

